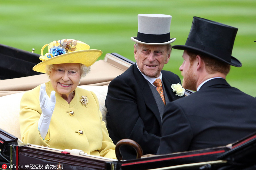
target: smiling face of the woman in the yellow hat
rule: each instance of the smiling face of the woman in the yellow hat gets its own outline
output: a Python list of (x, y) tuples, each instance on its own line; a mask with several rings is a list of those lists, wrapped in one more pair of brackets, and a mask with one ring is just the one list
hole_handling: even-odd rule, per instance
[(55, 92), (62, 97), (68, 97), (79, 85), (81, 79), (80, 64), (54, 64), (49, 76)]

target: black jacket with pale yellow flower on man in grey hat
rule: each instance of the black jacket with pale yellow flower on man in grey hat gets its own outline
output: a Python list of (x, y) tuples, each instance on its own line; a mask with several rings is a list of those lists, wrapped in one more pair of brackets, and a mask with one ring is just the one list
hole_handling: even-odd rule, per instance
[[(162, 70), (162, 82), (170, 101), (181, 98), (171, 88), (174, 83), (181, 84), (179, 76)], [(157, 152), (162, 124), (160, 113), (148, 82), (136, 64), (110, 82), (105, 105), (107, 128), (114, 143), (133, 139), (141, 145), (144, 154)], [(122, 154), (130, 151), (127, 149)], [(126, 159), (130, 159), (129, 156)]]

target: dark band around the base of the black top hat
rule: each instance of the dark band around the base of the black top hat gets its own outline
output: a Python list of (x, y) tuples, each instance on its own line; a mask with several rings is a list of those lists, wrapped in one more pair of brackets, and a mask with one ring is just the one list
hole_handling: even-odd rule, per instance
[(231, 53), (228, 52), (228, 51), (211, 48), (211, 47), (204, 46), (204, 45), (201, 45), (201, 44), (197, 44), (195, 42), (191, 42), (191, 41), (188, 41), (188, 40), (186, 41), (185, 45), (186, 46), (191, 46), (191, 47), (194, 47), (194, 48), (198, 48), (198, 49), (203, 50), (205, 52), (211, 53), (215, 56), (218, 56), (219, 58), (224, 59), (225, 61), (231, 61)]

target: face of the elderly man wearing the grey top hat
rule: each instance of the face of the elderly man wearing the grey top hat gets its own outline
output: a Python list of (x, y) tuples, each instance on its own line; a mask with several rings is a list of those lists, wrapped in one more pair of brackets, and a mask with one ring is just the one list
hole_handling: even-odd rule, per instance
[(158, 77), (170, 59), (167, 45), (134, 45), (134, 58), (140, 71), (149, 77)]

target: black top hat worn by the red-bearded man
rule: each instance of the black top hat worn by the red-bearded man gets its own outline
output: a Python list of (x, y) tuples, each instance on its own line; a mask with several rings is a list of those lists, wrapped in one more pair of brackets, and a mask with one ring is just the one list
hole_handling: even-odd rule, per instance
[(194, 16), (185, 45), (173, 48), (197, 52), (241, 67), (242, 63), (231, 56), (237, 31), (238, 28)]

